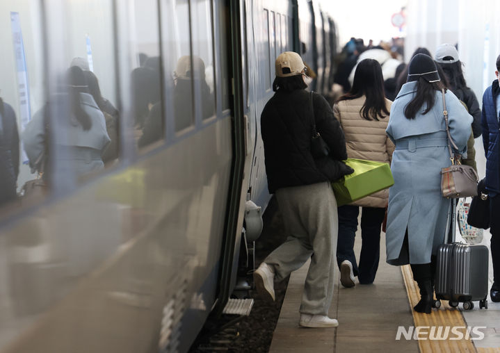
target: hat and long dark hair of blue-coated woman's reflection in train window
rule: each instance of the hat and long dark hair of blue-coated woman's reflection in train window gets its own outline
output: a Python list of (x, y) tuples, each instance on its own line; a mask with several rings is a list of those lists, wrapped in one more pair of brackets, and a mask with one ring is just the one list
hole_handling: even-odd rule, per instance
[(88, 93), (88, 85), (83, 70), (77, 66), (72, 66), (67, 69), (66, 74), (71, 112), (76, 117), (76, 121), (81, 124), (83, 130), (88, 131), (92, 127), (92, 120), (90, 115), (83, 110), (80, 99), (80, 93)]

